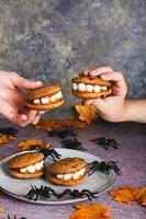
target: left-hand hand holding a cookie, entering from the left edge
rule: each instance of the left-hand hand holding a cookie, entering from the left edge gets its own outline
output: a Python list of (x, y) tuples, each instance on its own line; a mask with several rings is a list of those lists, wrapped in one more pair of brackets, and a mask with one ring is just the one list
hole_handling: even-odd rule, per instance
[(44, 112), (24, 110), (23, 102), (27, 90), (41, 85), (41, 81), (30, 81), (15, 72), (0, 71), (0, 114), (20, 126), (36, 124)]

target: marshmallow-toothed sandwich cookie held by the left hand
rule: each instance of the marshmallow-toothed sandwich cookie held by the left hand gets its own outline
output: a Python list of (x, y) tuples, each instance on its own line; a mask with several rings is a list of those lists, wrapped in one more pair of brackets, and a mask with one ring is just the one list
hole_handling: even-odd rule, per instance
[(63, 105), (64, 99), (57, 84), (44, 85), (31, 90), (25, 97), (25, 106), (36, 111), (50, 111)]

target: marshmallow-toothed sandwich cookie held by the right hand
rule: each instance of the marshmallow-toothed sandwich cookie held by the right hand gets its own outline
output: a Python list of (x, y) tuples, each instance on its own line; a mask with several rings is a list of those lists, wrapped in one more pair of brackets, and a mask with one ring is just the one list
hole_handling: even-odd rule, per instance
[(71, 80), (72, 94), (81, 99), (105, 97), (112, 92), (112, 82), (80, 74)]

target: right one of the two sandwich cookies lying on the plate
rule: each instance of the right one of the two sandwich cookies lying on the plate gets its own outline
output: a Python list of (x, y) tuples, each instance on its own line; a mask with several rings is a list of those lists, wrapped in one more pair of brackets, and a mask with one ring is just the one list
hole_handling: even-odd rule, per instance
[(66, 158), (47, 168), (48, 180), (57, 185), (77, 185), (87, 177), (87, 163), (81, 158)]

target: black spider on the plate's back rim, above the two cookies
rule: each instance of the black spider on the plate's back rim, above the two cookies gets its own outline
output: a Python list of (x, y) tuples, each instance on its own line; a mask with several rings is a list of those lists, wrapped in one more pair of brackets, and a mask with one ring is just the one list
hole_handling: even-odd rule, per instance
[(43, 153), (45, 159), (47, 157), (50, 157), (54, 161), (57, 161), (61, 158), (61, 154), (59, 154), (54, 148), (52, 148), (52, 145), (47, 142), (43, 148), (40, 148), (38, 146), (32, 146), (31, 150), (37, 150), (38, 152)]

